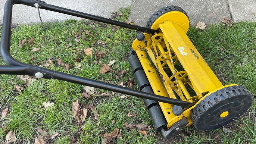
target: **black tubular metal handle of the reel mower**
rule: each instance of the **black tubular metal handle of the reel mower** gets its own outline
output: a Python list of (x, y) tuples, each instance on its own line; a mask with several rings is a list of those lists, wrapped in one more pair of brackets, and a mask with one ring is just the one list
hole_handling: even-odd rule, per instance
[(101, 81), (96, 81), (93, 79), (83, 78), (80, 76), (71, 75), (68, 73), (53, 71), (46, 68), (41, 68), (39, 66), (29, 65), (26, 63), (19, 62), (14, 59), (10, 54), (10, 38), (11, 38), (11, 24), (12, 24), (12, 8), (13, 4), (23, 4), (26, 6), (36, 7), (39, 9), (50, 10), (53, 12), (59, 12), (67, 15), (77, 16), (80, 18), (90, 19), (93, 21), (103, 22), (106, 24), (121, 26), (124, 28), (133, 29), (140, 32), (145, 32), (148, 34), (154, 34), (157, 32), (155, 29), (130, 25), (124, 22), (114, 21), (112, 19), (102, 18), (100, 16), (90, 15), (87, 13), (66, 9), (63, 7), (54, 6), (47, 4), (41, 0), (7, 0), (4, 6), (4, 16), (3, 16), (3, 27), (0, 42), (0, 53), (1, 57), (6, 62), (7, 65), (0, 66), (0, 74), (7, 75), (30, 75), (37, 78), (45, 79), (58, 79), (62, 81), (72, 82), (75, 84), (87, 85), (90, 87), (100, 88), (104, 90), (114, 91), (117, 93), (128, 94), (135, 97), (146, 98), (150, 100), (156, 100), (163, 103), (174, 104), (177, 106), (182, 106), (184, 108), (189, 108), (194, 105), (187, 101), (177, 100), (174, 98), (159, 96), (152, 93), (146, 93), (143, 91), (134, 90), (131, 88), (125, 88), (118, 85), (108, 84)]

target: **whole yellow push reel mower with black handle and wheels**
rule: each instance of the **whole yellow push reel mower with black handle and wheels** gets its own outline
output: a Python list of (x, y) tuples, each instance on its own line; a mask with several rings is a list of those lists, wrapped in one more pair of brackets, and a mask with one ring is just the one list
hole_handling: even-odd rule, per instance
[[(24, 4), (38, 10), (51, 10), (140, 31), (129, 52), (129, 63), (139, 90), (15, 60), (10, 54), (13, 4)], [(161, 131), (164, 138), (192, 124), (199, 131), (210, 131), (227, 125), (246, 112), (252, 104), (252, 95), (241, 85), (221, 84), (187, 37), (188, 28), (188, 15), (178, 6), (157, 10), (149, 18), (146, 27), (141, 27), (46, 4), (40, 0), (7, 0), (0, 48), (1, 57), (7, 65), (1, 65), (0, 72), (59, 79), (141, 97), (149, 110), (154, 128)]]

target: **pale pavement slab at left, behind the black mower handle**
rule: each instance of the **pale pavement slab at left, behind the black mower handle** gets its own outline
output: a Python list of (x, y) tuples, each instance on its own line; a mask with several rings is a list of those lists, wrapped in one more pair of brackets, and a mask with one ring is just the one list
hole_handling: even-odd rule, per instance
[[(4, 4), (7, 0), (1, 0), (0, 3), (0, 24), (3, 23)], [(132, 0), (44, 0), (47, 4), (77, 10), (92, 15), (109, 18), (112, 12), (116, 12), (120, 7), (131, 6)], [(40, 15), (43, 22), (63, 21), (74, 18), (75, 16), (64, 15), (62, 13), (51, 12), (40, 9)], [(40, 22), (37, 9), (21, 4), (13, 5), (12, 24), (32, 24)]]

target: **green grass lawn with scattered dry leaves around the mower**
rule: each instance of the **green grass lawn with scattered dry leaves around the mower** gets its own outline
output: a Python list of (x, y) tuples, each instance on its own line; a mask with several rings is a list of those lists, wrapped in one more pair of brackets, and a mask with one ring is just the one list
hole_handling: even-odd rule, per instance
[[(125, 21), (129, 15), (129, 8), (121, 9), (123, 13), (116, 19)], [(49, 69), (66, 72), (86, 78), (109, 82), (118, 85), (119, 82), (127, 82), (129, 78), (135, 84), (135, 78), (128, 63), (128, 51), (137, 32), (125, 28), (117, 28), (113, 31), (111, 25), (69, 19), (65, 22), (47, 23), (46, 31), (41, 25), (21, 25), (12, 29), (11, 53), (15, 59), (31, 65), (43, 66), (47, 60), (70, 65), (69, 71), (61, 66), (50, 65)], [(95, 37), (85, 34), (85, 30)], [(79, 35), (79, 42), (75, 42), (74, 32)], [(25, 82), (15, 75), (1, 75), (1, 104), (0, 110), (9, 108), (9, 115), (1, 120), (0, 134), (4, 140), (6, 134), (13, 130), (16, 133), (15, 143), (34, 143), (35, 137), (40, 135), (37, 128), (47, 132), (58, 131), (59, 135), (49, 143), (68, 144), (77, 132), (81, 143), (102, 143), (103, 138), (99, 134), (112, 132), (119, 128), (122, 136), (115, 138), (118, 144), (146, 144), (146, 143), (219, 143), (240, 144), (255, 143), (255, 23), (239, 22), (231, 26), (224, 24), (210, 25), (205, 30), (191, 27), (187, 33), (190, 40), (205, 58), (210, 68), (215, 72), (222, 84), (241, 84), (253, 94), (254, 102), (251, 109), (235, 122), (230, 124), (232, 132), (225, 133), (216, 129), (209, 132), (200, 132), (192, 126), (182, 129), (174, 137), (162, 140), (162, 137), (154, 129), (147, 131), (145, 137), (138, 129), (127, 130), (124, 123), (147, 124), (153, 128), (150, 116), (144, 107), (141, 98), (120, 98), (121, 94), (114, 93), (113, 97), (96, 96), (108, 92), (95, 90), (90, 99), (82, 98), (83, 86), (55, 79), (37, 79), (31, 85), (26, 86), (22, 93), (13, 90), (14, 85), (24, 87)], [(34, 45), (18, 47), (20, 40), (34, 38)], [(105, 41), (100, 45), (97, 41)], [(72, 44), (70, 46), (69, 44)], [(31, 50), (37, 47), (38, 51)], [(86, 56), (84, 49), (93, 48), (93, 55)], [(220, 48), (222, 47), (223, 50)], [(96, 50), (106, 51), (102, 58), (95, 57)], [(79, 52), (81, 54), (79, 54)], [(97, 60), (97, 64), (95, 61)], [(102, 65), (116, 60), (109, 73), (99, 73)], [(81, 70), (75, 68), (81, 64)], [(5, 65), (1, 60), (1, 65)], [(43, 66), (44, 67), (44, 66)], [(124, 70), (122, 78), (116, 78), (116, 74)], [(127, 84), (125, 84), (127, 85)], [(128, 87), (128, 86), (127, 86)], [(136, 89), (136, 84), (134, 86)], [(108, 92), (110, 93), (110, 92)], [(72, 103), (79, 99), (81, 107), (93, 104), (98, 113), (98, 119), (93, 119), (93, 112), (88, 110), (88, 116), (82, 125), (71, 115)], [(45, 109), (44, 102), (54, 102), (52, 109)], [(128, 112), (138, 115), (128, 117)], [(115, 122), (112, 122), (114, 120)], [(215, 135), (219, 137), (214, 139)]]

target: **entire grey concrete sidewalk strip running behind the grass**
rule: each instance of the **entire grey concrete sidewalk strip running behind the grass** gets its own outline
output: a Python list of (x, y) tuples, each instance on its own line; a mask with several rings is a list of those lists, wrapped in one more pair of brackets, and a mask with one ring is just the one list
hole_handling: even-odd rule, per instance
[[(0, 0), (0, 24), (3, 20), (4, 3)], [(150, 16), (163, 6), (177, 5), (182, 7), (190, 18), (190, 24), (198, 21), (207, 25), (220, 22), (222, 17), (234, 21), (255, 21), (255, 0), (45, 0), (48, 4), (77, 10), (92, 15), (109, 18), (112, 12), (120, 7), (131, 6), (129, 19), (135, 25), (145, 26)], [(43, 22), (63, 21), (72, 16), (61, 13), (40, 10)], [(72, 17), (75, 19), (81, 19)], [(34, 7), (15, 4), (13, 6), (12, 24), (31, 24), (40, 22), (37, 9)]]

